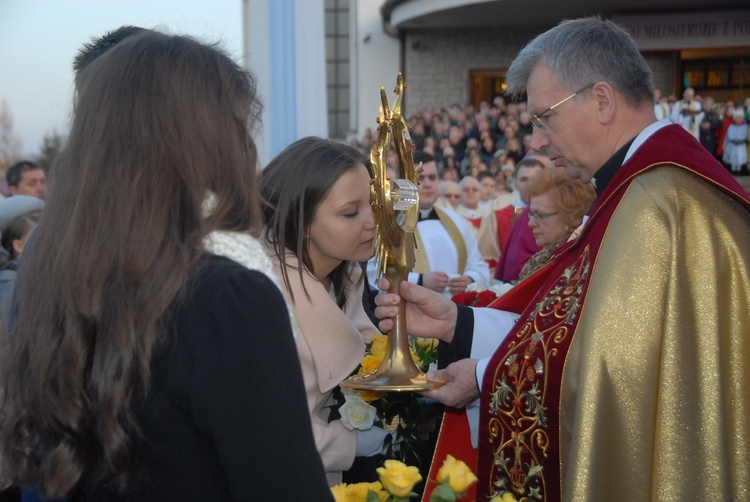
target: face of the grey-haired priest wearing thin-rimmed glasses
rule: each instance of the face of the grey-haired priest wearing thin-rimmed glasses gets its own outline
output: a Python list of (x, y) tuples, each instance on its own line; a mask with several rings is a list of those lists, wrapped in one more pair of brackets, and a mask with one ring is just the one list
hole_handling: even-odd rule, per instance
[(531, 148), (546, 150), (552, 164), (564, 167), (568, 176), (589, 182), (611, 154), (602, 149), (591, 89), (561, 89), (552, 70), (539, 63), (529, 75), (527, 93), (529, 110), (541, 124), (534, 127)]

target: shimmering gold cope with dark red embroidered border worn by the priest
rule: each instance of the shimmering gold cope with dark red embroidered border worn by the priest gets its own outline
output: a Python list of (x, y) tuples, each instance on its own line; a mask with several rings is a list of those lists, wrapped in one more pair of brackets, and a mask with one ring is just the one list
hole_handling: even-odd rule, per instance
[(527, 280), (476, 500), (750, 500), (750, 201), (700, 143), (656, 131)]

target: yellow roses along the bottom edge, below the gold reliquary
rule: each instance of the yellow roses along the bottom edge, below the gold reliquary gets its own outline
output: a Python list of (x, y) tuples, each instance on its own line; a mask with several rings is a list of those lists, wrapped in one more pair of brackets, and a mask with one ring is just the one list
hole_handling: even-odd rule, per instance
[[(333, 498), (336, 502), (405, 502), (417, 495), (412, 490), (422, 476), (416, 467), (386, 460), (384, 467), (377, 470), (379, 482), (336, 485), (331, 488)], [(438, 471), (437, 482), (440, 486), (430, 495), (430, 502), (454, 502), (477, 482), (477, 477), (464, 462), (448, 455)]]

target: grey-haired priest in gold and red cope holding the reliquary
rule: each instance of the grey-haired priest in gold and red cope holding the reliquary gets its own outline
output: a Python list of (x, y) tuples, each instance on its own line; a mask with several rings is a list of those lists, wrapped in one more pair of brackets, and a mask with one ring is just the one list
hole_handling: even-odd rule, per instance
[[(506, 82), (528, 95), (532, 148), (597, 199), (494, 308), (401, 285), (409, 332), (456, 359), (428, 395), (481, 395), (476, 500), (750, 499), (747, 192), (656, 120), (649, 67), (611, 21), (539, 35)], [(378, 298), (381, 329), (398, 300)]]

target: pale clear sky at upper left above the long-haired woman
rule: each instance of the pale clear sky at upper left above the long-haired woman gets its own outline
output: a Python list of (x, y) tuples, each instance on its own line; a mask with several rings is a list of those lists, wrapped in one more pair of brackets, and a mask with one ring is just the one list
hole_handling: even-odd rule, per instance
[(78, 49), (125, 24), (220, 42), (242, 58), (242, 0), (0, 0), (0, 102), (13, 115), (21, 153), (65, 133)]

